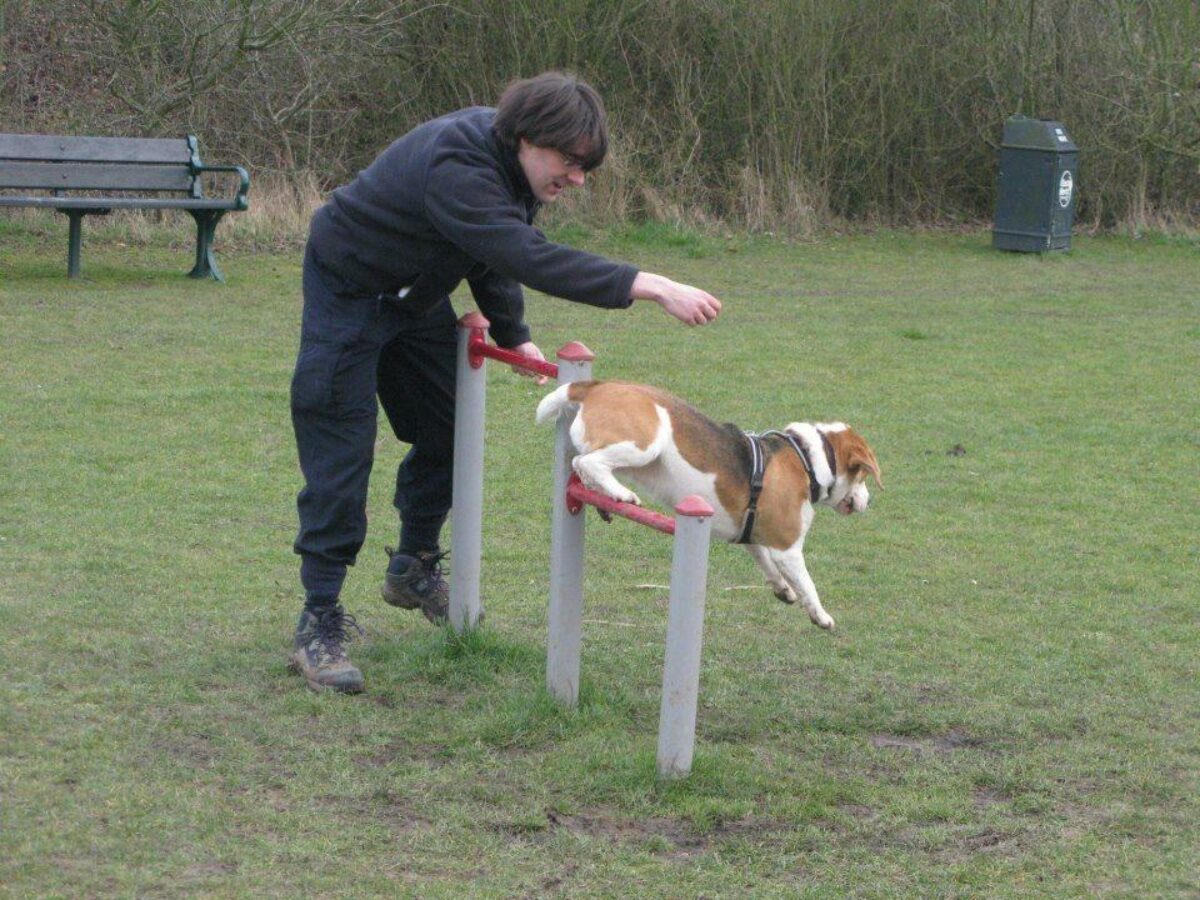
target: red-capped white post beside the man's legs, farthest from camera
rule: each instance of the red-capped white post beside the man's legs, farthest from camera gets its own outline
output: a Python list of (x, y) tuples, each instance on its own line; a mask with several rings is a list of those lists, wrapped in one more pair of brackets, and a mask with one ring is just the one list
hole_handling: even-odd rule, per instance
[(484, 413), (487, 376), (482, 358), (472, 365), (473, 335), (488, 322), (478, 312), (458, 320), (454, 414), (454, 508), (450, 538), (450, 626), (458, 634), (479, 624), (479, 568), (484, 535)]

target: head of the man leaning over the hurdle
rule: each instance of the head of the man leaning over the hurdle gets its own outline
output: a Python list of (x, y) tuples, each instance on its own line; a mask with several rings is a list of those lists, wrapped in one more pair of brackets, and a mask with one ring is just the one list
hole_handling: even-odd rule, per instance
[(542, 203), (583, 184), (608, 152), (600, 95), (575, 76), (544, 72), (514, 82), (496, 112), (496, 133), (512, 148)]

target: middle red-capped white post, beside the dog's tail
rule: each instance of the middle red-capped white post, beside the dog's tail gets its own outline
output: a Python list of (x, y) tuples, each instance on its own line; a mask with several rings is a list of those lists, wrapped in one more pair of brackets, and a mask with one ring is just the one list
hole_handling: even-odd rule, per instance
[[(558, 352), (558, 383), (592, 377), (592, 352), (571, 342)], [(566, 509), (566, 481), (571, 476), (570, 430), (572, 412), (558, 419), (554, 437), (554, 487), (551, 498), (550, 613), (546, 640), (546, 688), (568, 706), (580, 700), (580, 648), (583, 640), (583, 523), (582, 512)]]

